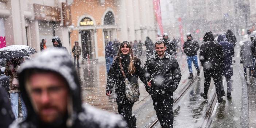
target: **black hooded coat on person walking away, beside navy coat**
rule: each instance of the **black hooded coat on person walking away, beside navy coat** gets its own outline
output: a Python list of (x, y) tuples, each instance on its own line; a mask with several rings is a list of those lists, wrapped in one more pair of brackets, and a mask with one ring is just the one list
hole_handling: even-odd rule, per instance
[(221, 44), (216, 43), (212, 32), (206, 32), (203, 37), (205, 43), (200, 47), (200, 61), (205, 69), (222, 70), (224, 66), (224, 54)]

